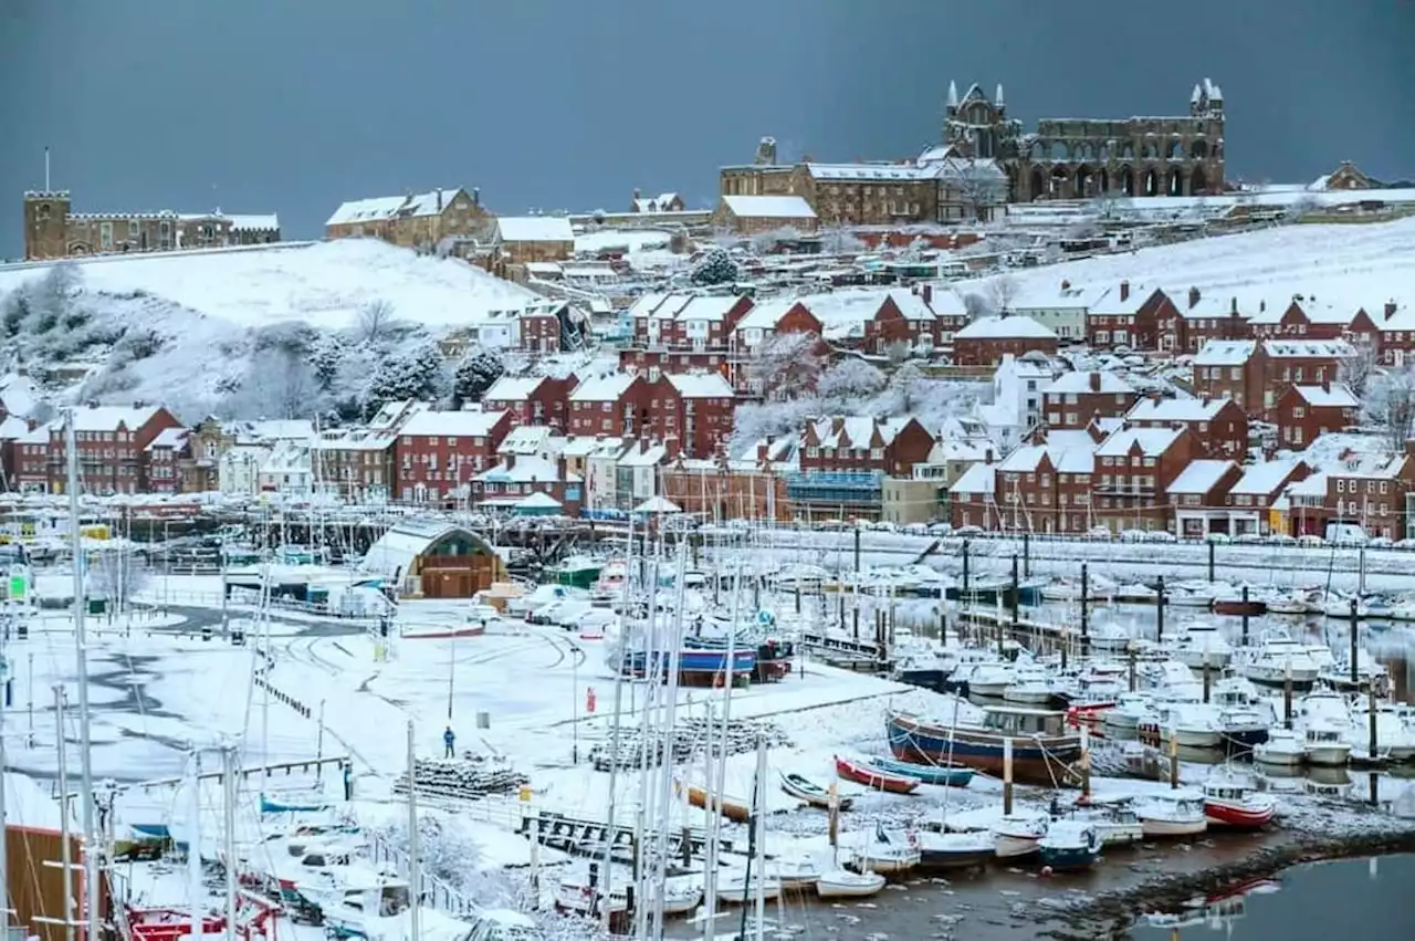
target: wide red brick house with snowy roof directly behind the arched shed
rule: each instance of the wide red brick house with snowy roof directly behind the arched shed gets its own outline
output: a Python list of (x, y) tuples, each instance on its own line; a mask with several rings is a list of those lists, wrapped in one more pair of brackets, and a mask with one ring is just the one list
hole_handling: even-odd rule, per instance
[(419, 412), (393, 444), (393, 492), (402, 502), (444, 504), (467, 497), (475, 474), (497, 464), (511, 412)]

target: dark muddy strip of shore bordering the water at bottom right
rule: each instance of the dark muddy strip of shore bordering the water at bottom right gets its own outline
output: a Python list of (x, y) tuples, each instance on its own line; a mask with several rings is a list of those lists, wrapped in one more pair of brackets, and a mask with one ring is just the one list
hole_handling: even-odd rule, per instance
[[(1373, 815), (1374, 816), (1374, 815)], [(1176, 911), (1196, 897), (1231, 891), (1244, 883), (1274, 879), (1305, 863), (1415, 852), (1415, 821), (1390, 815), (1370, 819), (1358, 833), (1332, 835), (1310, 826), (1274, 831), (1259, 849), (1197, 872), (1160, 872), (1135, 884), (1109, 889), (1033, 914), (1039, 937), (1094, 941), (1129, 930), (1149, 913)], [(1363, 821), (1365, 822), (1365, 821)], [(1384, 828), (1377, 828), (1385, 824)]]

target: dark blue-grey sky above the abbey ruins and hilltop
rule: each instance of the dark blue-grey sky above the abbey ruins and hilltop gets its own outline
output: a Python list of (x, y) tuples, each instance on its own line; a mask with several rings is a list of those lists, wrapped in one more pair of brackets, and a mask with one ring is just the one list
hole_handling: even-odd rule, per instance
[(0, 0), (0, 258), (20, 192), (277, 211), (478, 185), (498, 212), (716, 194), (782, 157), (913, 154), (949, 78), (1013, 115), (1187, 109), (1224, 88), (1231, 177), (1415, 175), (1415, 4), (1371, 0)]

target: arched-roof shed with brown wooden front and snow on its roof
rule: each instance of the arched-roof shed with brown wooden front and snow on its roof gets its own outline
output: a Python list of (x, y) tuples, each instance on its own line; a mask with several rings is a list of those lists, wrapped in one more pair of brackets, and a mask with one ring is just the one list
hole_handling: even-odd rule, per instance
[(475, 532), (441, 519), (405, 519), (364, 555), (366, 572), (399, 597), (470, 599), (507, 580), (507, 563)]

